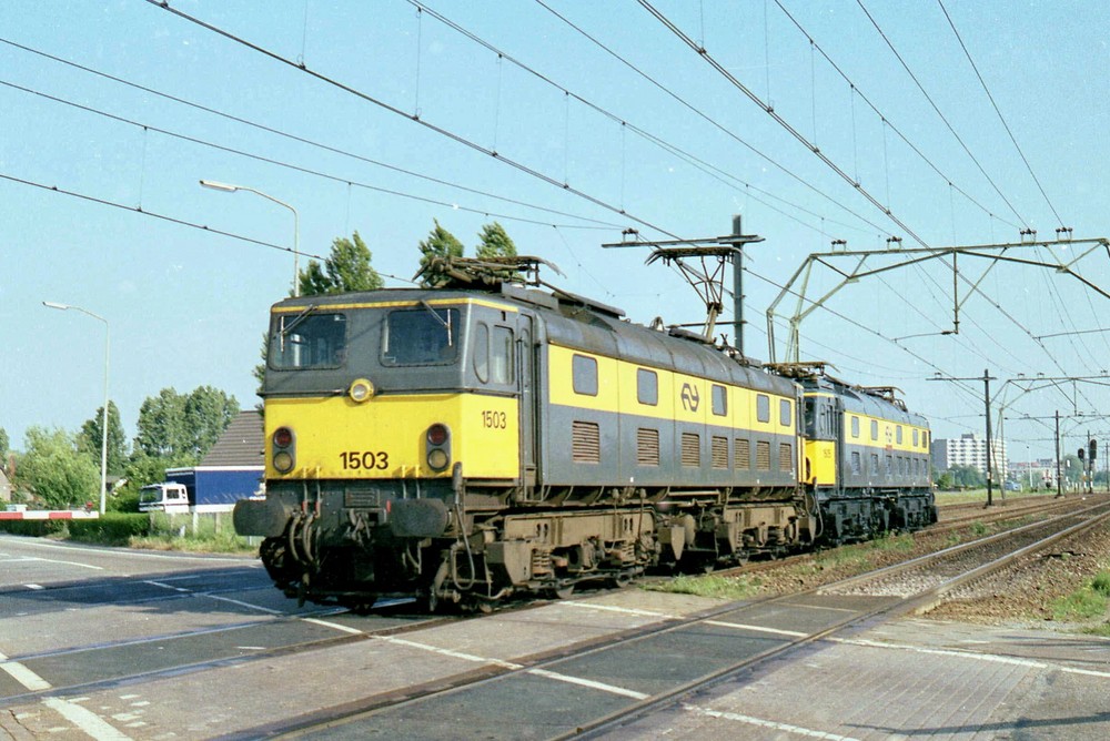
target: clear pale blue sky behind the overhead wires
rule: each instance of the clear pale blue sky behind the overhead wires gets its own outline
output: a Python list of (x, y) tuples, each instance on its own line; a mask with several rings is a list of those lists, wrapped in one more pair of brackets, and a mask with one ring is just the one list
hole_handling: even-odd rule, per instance
[[(391, 286), (407, 285), (433, 219), (468, 246), (497, 220), (522, 254), (565, 273), (548, 280), (644, 323), (703, 309), (676, 273), (644, 264), (646, 251), (601, 244), (629, 227), (715, 236), (740, 213), (766, 240), (750, 248), (745, 290), (745, 345), (760, 359), (768, 305), (833, 240), (1110, 235), (1104, 3), (650, 3), (900, 224), (632, 0), (170, 4), (273, 55), (144, 0), (0, 6), (0, 426), (13, 447), (32, 425), (78, 428), (102, 402), (103, 326), (42, 301), (110, 323), (111, 396), (129, 436), (163, 387), (256, 402), (251, 369), (268, 307), (290, 287), (293, 219), (201, 179), (292, 204), (304, 255), (357, 230)], [(1082, 251), (1010, 254), (1053, 263)], [(1107, 290), (1108, 256), (1074, 270)], [(952, 274), (932, 261), (847, 286), (834, 312), (803, 322), (801, 356), (898, 386), (938, 437), (981, 430), (982, 385), (928, 379), (990, 368), (1013, 458), (1051, 448), (1046, 423), (1022, 415), (1082, 413), (1066, 432), (1110, 432), (1094, 418), (1108, 396), (1106, 297), (1053, 271), (1003, 264), (983, 276), (986, 263), (966, 262), (958, 335), (941, 334)], [(807, 295), (830, 281), (815, 274)], [(1037, 374), (1096, 378), (1019, 394)]]

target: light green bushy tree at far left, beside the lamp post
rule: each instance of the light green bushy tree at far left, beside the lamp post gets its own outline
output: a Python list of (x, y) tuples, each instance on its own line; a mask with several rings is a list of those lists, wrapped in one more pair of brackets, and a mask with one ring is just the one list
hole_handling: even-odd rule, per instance
[(26, 453), (16, 469), (16, 486), (51, 509), (68, 509), (97, 498), (100, 466), (79, 453), (77, 440), (63, 429), (30, 427)]

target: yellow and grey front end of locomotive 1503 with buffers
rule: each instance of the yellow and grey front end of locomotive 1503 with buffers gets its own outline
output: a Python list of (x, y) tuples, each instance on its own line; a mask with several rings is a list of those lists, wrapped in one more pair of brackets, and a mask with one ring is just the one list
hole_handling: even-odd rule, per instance
[(274, 306), (266, 496), (240, 503), (234, 520), (264, 538), (262, 560), (287, 595), (364, 606), (444, 578), (440, 555), (467, 531), (466, 481), (519, 479), (502, 319), (442, 292)]

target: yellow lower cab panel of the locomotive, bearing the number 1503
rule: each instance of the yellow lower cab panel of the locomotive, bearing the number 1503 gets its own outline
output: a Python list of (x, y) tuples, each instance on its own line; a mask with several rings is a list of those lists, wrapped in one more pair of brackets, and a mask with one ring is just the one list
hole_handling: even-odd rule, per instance
[[(436, 438), (443, 426), (446, 439)], [(379, 395), (359, 404), (347, 396), (269, 399), (266, 477), (391, 479), (521, 475), (519, 410), (515, 398), (483, 394)], [(278, 457), (291, 430), (291, 465)], [(441, 433), (442, 435), (442, 433)], [(436, 438), (436, 439), (432, 439)], [(442, 453), (433, 453), (434, 449)]]

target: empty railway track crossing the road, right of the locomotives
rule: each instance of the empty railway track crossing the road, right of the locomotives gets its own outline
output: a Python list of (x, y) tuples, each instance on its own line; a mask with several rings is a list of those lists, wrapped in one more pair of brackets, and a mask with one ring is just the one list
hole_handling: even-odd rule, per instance
[[(626, 734), (629, 723), (676, 703), (688, 710), (696, 706), (698, 692), (743, 680), (771, 659), (791, 660), (820, 641), (847, 640), (861, 627), (928, 610), (948, 590), (1108, 517), (1110, 504), (1100, 501), (823, 588), (666, 617), (586, 644), (512, 661), (478, 661), (474, 671), (448, 681), (408, 687), (285, 721), (280, 728), (255, 728), (226, 738), (355, 739), (401, 729), (425, 738), (451, 738), (457, 727), (445, 728), (434, 719), (457, 718), (464, 708), (518, 702), (532, 697), (529, 688), (534, 692), (541, 681), (586, 688), (607, 701), (563, 707), (544, 723), (529, 721), (529, 710), (522, 707), (521, 725), (512, 733), (466, 715), (467, 733), (494, 739)], [(420, 632), (410, 639), (420, 644)]]

